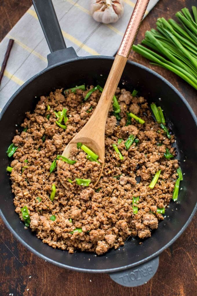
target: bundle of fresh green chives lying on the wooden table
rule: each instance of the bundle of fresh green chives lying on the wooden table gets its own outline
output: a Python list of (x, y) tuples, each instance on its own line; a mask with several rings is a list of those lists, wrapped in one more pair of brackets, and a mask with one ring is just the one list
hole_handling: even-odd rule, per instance
[(132, 49), (151, 60), (151, 64), (162, 66), (179, 75), (197, 89), (197, 9), (193, 16), (187, 8), (176, 13), (181, 24), (174, 20), (157, 20), (157, 30), (146, 31), (142, 44)]

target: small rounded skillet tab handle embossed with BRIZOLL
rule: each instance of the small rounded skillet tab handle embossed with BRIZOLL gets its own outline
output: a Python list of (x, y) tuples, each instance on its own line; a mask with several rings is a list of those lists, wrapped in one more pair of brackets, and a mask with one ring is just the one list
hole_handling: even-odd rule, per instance
[(157, 271), (159, 266), (159, 257), (156, 257), (139, 266), (129, 268), (123, 271), (114, 272), (110, 275), (116, 283), (125, 287), (137, 287), (149, 281)]

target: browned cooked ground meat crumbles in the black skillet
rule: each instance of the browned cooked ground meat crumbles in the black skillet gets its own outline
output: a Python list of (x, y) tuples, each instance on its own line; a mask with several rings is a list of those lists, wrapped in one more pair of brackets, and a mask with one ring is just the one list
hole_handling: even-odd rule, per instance
[[(118, 123), (110, 108), (106, 125), (105, 166), (100, 181), (96, 188), (92, 183), (85, 187), (67, 181), (68, 178), (89, 178), (89, 173), (91, 178), (96, 179), (100, 169), (98, 163), (87, 162), (84, 152), (74, 149), (71, 159), (77, 162), (70, 166), (63, 163), (63, 175), (68, 184), (68, 188), (64, 188), (59, 181), (57, 167), (52, 173), (49, 169), (97, 105), (100, 92), (93, 92), (84, 102), (86, 94), (87, 91), (77, 90), (75, 94), (64, 96), (62, 89), (57, 89), (47, 97), (41, 96), (32, 114), (26, 113), (22, 127), (27, 131), (17, 132), (13, 139), (18, 149), (11, 163), (11, 180), (16, 212), (23, 220), (21, 208), (27, 206), (30, 227), (38, 238), (53, 248), (70, 253), (82, 250), (99, 255), (111, 247), (117, 249), (130, 235), (142, 239), (151, 236), (158, 220), (163, 219), (163, 215), (157, 213), (157, 207), (166, 207), (172, 198), (178, 160), (164, 157), (166, 148), (175, 155), (171, 147), (175, 139), (173, 135), (170, 140), (167, 139), (165, 132), (154, 122), (146, 100), (133, 97), (125, 89), (117, 89), (122, 118)], [(56, 124), (54, 114), (54, 111), (63, 108), (68, 110), (66, 129)], [(131, 125), (126, 126), (126, 112), (137, 114), (145, 123), (142, 125), (131, 119)], [(126, 150), (124, 143), (131, 134), (139, 139), (139, 144), (133, 142)], [(118, 143), (118, 138), (123, 139), (118, 145), (123, 160), (112, 146)], [(25, 166), (27, 168), (22, 172)], [(159, 180), (154, 189), (150, 189), (149, 184), (158, 170), (161, 170)], [(137, 182), (139, 177), (141, 181)], [(52, 184), (56, 186), (53, 201), (50, 200)], [(138, 212), (133, 214), (132, 200), (138, 196), (139, 202), (135, 204)], [(52, 215), (55, 220), (50, 219)], [(81, 231), (74, 231), (76, 228)]]

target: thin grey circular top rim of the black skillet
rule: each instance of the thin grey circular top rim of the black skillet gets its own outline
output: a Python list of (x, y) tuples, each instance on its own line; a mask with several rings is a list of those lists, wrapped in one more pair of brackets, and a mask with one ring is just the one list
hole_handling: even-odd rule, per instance
[[(10, 103), (14, 100), (14, 98), (19, 94), (19, 92), (24, 89), (29, 83), (31, 83), (35, 78), (39, 77), (40, 75), (44, 74), (45, 72), (68, 64), (70, 62), (75, 62), (78, 60), (88, 60), (88, 59), (110, 59), (110, 60), (114, 60), (114, 57), (108, 57), (108, 56), (88, 56), (88, 57), (76, 57), (76, 58), (71, 58), (71, 59), (67, 59), (66, 61), (63, 62), (59, 62), (57, 64), (54, 64), (50, 67), (46, 67), (45, 69), (43, 69), (42, 71), (40, 71), (38, 74), (34, 75), (33, 77), (31, 77), (29, 80), (27, 80), (21, 87), (19, 87), (19, 89), (17, 89), (17, 91), (11, 96), (11, 98), (8, 100), (8, 102), (5, 104), (3, 110), (1, 111), (0, 114), (0, 120), (2, 118), (2, 116), (4, 115), (4, 113), (6, 112), (7, 108), (9, 107)], [(164, 77), (162, 77), (161, 75), (159, 75), (157, 72), (143, 66), (140, 65), (139, 63), (136, 62), (132, 62), (132, 61), (127, 61), (128, 64), (132, 64), (135, 65), (136, 67), (141, 68), (142, 70), (147, 71), (150, 74), (153, 74), (154, 76), (156, 76), (157, 78), (159, 78), (160, 80), (162, 80), (165, 84), (167, 84), (179, 97), (180, 99), (183, 101), (183, 103), (185, 104), (185, 107), (188, 108), (189, 112), (191, 113), (194, 122), (196, 123), (196, 127), (197, 127), (197, 117), (195, 115), (195, 113), (193, 112), (191, 106), (189, 105), (189, 103), (187, 102), (187, 100), (183, 97), (183, 95), (169, 82), (167, 81)], [(5, 223), (6, 227), (9, 229), (9, 231), (14, 235), (14, 237), (21, 243), (23, 244), (28, 250), (30, 250), (32, 253), (34, 253), (36, 256), (38, 256), (39, 258), (48, 261), (51, 264), (54, 264), (58, 267), (61, 268), (66, 268), (69, 270), (74, 270), (74, 271), (81, 271), (81, 272), (87, 272), (87, 273), (112, 273), (112, 272), (117, 272), (117, 271), (123, 271), (126, 270), (128, 268), (132, 268), (134, 266), (138, 266), (140, 264), (143, 264), (149, 260), (152, 260), (153, 258), (157, 257), (159, 254), (161, 254), (167, 247), (169, 247), (171, 244), (173, 244), (175, 242), (176, 239), (178, 239), (178, 237), (180, 237), (180, 235), (185, 231), (185, 229), (188, 227), (189, 223), (191, 222), (194, 214), (196, 213), (197, 210), (197, 202), (196, 205), (193, 208), (193, 211), (191, 213), (191, 215), (189, 216), (187, 222), (185, 223), (185, 225), (182, 227), (182, 229), (173, 237), (173, 239), (170, 240), (170, 242), (168, 242), (167, 244), (165, 244), (165, 246), (163, 246), (160, 250), (158, 250), (157, 252), (155, 252), (154, 254), (136, 262), (136, 263), (132, 263), (126, 266), (122, 266), (122, 267), (117, 267), (117, 268), (110, 268), (110, 269), (87, 269), (87, 268), (76, 268), (76, 267), (72, 267), (72, 266), (67, 266), (66, 264), (62, 264), (62, 263), (58, 263), (55, 260), (49, 259), (48, 257), (45, 257), (44, 255), (40, 254), (38, 251), (36, 251), (34, 248), (30, 247), (21, 237), (19, 237), (19, 235), (17, 234), (16, 231), (14, 231), (12, 229), (12, 227), (9, 225), (9, 222), (6, 220), (4, 214), (1, 211), (0, 208), (0, 215), (1, 218), (3, 220), (3, 222)]]

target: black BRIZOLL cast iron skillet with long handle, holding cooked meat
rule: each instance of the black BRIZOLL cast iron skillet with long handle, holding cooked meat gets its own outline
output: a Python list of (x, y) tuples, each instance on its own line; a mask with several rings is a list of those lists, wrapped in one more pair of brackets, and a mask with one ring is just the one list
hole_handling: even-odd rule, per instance
[(157, 230), (152, 231), (152, 237), (145, 239), (141, 245), (138, 238), (129, 238), (124, 247), (95, 256), (85, 252), (69, 254), (43, 244), (31, 229), (24, 229), (24, 224), (14, 212), (11, 182), (6, 174), (6, 166), (10, 164), (6, 149), (14, 137), (15, 125), (20, 126), (26, 111), (34, 110), (41, 95), (49, 94), (55, 88), (69, 88), (83, 83), (104, 86), (113, 57), (77, 57), (72, 47), (66, 48), (51, 0), (33, 0), (33, 4), (51, 54), (48, 55), (48, 67), (23, 84), (1, 112), (1, 217), (25, 247), (50, 263), (75, 271), (109, 273), (114, 281), (127, 287), (144, 284), (157, 271), (159, 254), (183, 233), (196, 211), (196, 116), (168, 81), (152, 70), (128, 61), (119, 86), (129, 91), (135, 88), (149, 102), (160, 105), (175, 133), (178, 159), (184, 173), (178, 202), (170, 203), (166, 218), (159, 222)]

